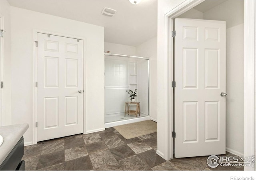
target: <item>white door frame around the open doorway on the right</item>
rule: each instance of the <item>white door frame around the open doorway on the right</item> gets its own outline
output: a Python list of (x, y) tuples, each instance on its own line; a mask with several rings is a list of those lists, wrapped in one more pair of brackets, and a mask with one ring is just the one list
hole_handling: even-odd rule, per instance
[[(190, 10), (205, 0), (186, 0), (164, 15), (164, 60), (168, 62), (168, 80), (173, 80), (173, 38), (174, 18)], [(251, 0), (244, 0), (244, 156), (256, 154), (255, 147), (255, 53), (256, 53), (256, 3)], [(171, 132), (174, 130), (173, 119), (173, 88), (169, 85), (168, 90), (168, 122), (166, 134), (170, 136), (167, 146), (168, 157), (173, 158), (174, 143)], [(244, 170), (252, 170), (252, 167), (244, 167)]]

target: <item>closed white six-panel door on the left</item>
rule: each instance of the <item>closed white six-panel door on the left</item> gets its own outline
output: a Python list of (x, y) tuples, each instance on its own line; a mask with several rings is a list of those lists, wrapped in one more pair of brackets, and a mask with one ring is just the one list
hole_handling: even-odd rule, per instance
[(83, 132), (83, 40), (37, 33), (37, 141)]

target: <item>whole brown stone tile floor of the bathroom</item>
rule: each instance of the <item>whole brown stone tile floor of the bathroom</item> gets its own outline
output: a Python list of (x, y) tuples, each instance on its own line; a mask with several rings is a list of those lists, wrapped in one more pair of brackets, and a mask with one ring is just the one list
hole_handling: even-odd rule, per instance
[(107, 128), (25, 146), (23, 159), (25, 170), (243, 170), (209, 168), (208, 156), (166, 161), (156, 154), (156, 147), (157, 133), (126, 140), (114, 128)]

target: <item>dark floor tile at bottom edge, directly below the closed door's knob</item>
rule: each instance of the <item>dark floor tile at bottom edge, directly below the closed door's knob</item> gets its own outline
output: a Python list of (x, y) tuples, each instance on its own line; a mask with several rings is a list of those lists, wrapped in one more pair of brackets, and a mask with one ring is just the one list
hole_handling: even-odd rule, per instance
[(65, 170), (92, 170), (92, 163), (89, 156), (83, 156), (65, 162)]

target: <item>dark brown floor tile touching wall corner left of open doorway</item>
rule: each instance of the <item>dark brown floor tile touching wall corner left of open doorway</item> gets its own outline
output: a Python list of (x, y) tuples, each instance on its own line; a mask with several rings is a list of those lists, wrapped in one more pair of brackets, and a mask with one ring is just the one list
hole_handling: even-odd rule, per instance
[(166, 162), (166, 160), (156, 154), (156, 151), (154, 149), (137, 154), (137, 156), (140, 157), (144, 162), (146, 162), (148, 166), (150, 166), (150, 168)]

